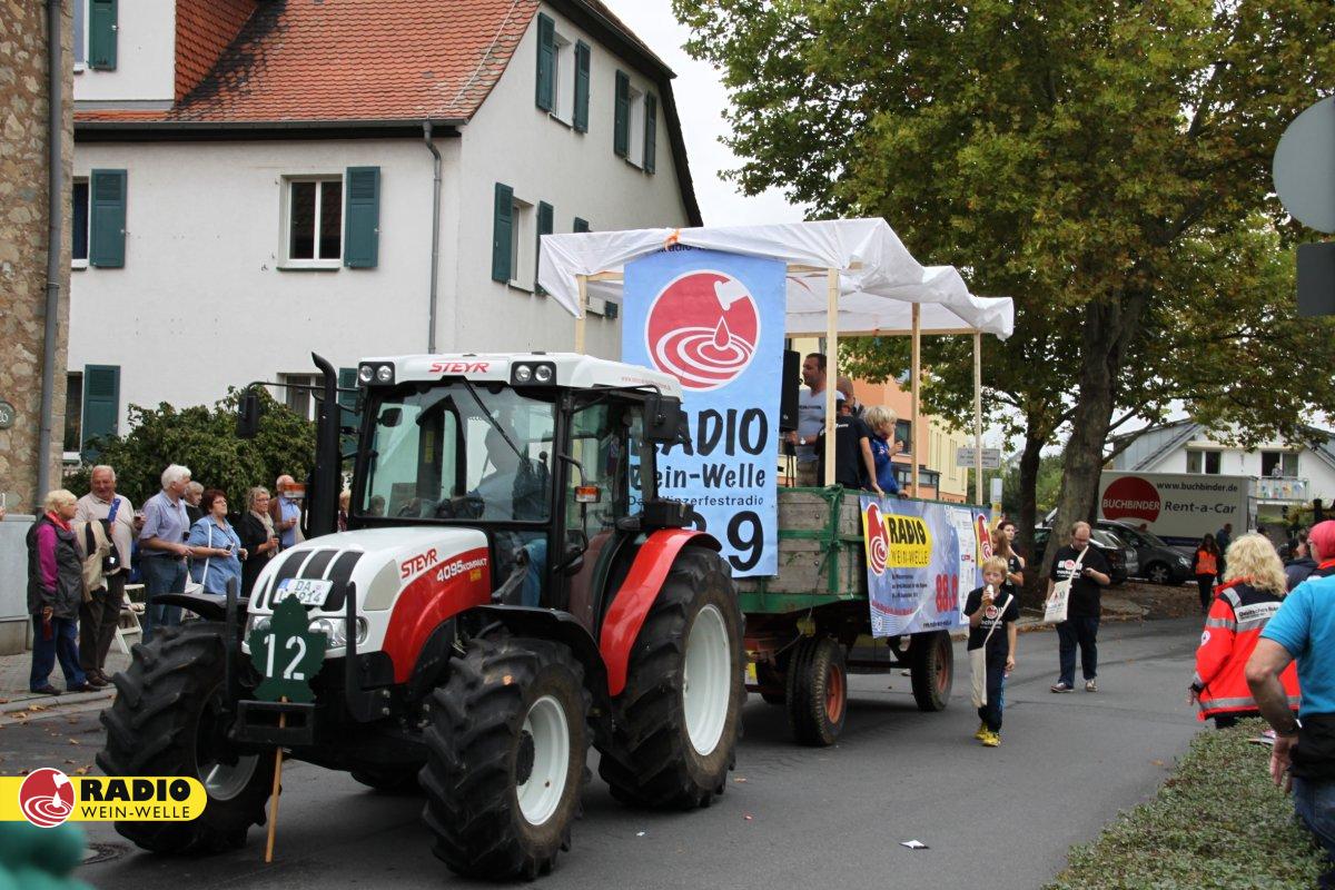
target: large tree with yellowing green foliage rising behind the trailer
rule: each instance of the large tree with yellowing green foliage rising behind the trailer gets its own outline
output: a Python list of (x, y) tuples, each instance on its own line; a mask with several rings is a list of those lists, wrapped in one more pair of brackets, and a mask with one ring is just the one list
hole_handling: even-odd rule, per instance
[[(1067, 434), (1059, 522), (1095, 512), (1109, 432), (1173, 399), (1251, 430), (1291, 427), (1296, 404), (1335, 407), (1328, 375), (1282, 382), (1287, 363), (1252, 364), (1284, 332), (1300, 347), (1280, 352), (1330, 367), (1331, 324), (1296, 323), (1280, 282), (1298, 230), (1270, 181), (1280, 132), (1328, 89), (1330, 3), (674, 8), (688, 49), (732, 91), (744, 191), (881, 215), (976, 292), (1017, 298), (1017, 330), (1040, 331), (1037, 363), (1007, 368), (1035, 408), (1025, 451), (1044, 424)], [(1282, 411), (1262, 411), (1256, 375)]]

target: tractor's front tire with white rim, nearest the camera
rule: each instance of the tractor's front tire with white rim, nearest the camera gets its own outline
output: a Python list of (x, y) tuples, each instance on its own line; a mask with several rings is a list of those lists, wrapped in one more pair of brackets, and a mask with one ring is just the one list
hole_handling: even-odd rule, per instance
[(565, 646), (469, 643), (431, 694), (421, 779), (435, 855), (471, 878), (551, 871), (581, 811), (587, 719), (583, 667)]

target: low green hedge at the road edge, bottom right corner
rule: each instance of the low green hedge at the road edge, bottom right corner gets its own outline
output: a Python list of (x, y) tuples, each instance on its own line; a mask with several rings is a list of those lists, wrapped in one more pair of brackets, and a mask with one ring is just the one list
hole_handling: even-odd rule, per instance
[(1320, 850), (1271, 783), (1270, 749), (1247, 741), (1262, 729), (1200, 733), (1157, 797), (1073, 847), (1048, 890), (1315, 887)]

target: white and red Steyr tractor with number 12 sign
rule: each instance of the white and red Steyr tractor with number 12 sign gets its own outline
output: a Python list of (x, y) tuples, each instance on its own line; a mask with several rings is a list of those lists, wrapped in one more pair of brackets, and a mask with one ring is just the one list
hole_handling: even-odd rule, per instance
[[(657, 496), (655, 446), (688, 435), (677, 380), (571, 354), (367, 359), (335, 532), (347, 430), (335, 371), (312, 358), (307, 539), (248, 599), (158, 596), (200, 618), (135, 646), (103, 715), (103, 771), (198, 777), (208, 803), (116, 830), (158, 853), (238, 847), (266, 821), (283, 749), (374, 789), (419, 786), (454, 871), (531, 878), (569, 849), (590, 743), (626, 805), (722, 794), (742, 619), (718, 543)], [(259, 423), (250, 391), (238, 431)], [(247, 640), (287, 598), (327, 636), (310, 703), (255, 695)]]

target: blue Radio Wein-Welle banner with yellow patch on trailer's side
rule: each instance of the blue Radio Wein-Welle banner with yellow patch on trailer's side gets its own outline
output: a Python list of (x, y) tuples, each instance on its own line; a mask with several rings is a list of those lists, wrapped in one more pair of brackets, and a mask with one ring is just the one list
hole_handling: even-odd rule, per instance
[(977, 586), (983, 514), (873, 495), (861, 507), (872, 636), (963, 627), (964, 599)]

